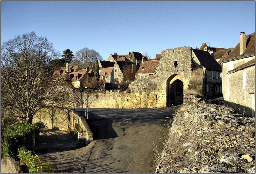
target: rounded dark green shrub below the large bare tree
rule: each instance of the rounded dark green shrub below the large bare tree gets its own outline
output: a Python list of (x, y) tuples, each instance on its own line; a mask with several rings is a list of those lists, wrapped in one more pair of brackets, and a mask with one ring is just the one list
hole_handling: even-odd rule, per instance
[(19, 160), (18, 148), (33, 149), (32, 135), (35, 134), (35, 144), (39, 137), (39, 126), (36, 124), (19, 123), (10, 127), (4, 137), (3, 150), (8, 157)]

